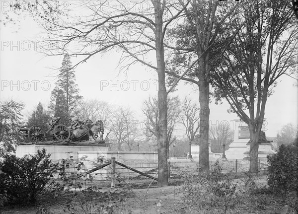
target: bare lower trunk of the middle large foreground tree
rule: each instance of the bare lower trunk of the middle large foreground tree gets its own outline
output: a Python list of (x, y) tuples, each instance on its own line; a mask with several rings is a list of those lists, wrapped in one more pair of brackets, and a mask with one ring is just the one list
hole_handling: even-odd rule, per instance
[(209, 170), (209, 75), (206, 77), (204, 61), (199, 62), (199, 102), (200, 102), (200, 169)]

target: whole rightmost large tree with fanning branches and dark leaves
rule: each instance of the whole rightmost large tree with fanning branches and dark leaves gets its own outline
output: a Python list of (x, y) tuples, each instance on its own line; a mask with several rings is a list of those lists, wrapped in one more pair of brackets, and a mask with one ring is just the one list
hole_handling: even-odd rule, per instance
[(249, 126), (249, 170), (257, 172), (267, 97), (280, 76), (296, 70), (298, 28), (289, 1), (251, 0), (240, 5), (243, 18), (235, 19), (234, 24), (242, 27), (224, 52), (224, 60), (213, 67), (211, 84), (216, 103), (225, 99), (228, 112), (236, 113)]

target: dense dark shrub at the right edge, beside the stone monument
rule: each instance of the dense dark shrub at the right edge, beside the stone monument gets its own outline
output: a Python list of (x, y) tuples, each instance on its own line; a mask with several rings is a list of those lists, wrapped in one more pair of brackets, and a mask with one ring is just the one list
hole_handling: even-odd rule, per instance
[(268, 185), (276, 190), (298, 191), (298, 147), (292, 144), (279, 147), (276, 154), (267, 156)]

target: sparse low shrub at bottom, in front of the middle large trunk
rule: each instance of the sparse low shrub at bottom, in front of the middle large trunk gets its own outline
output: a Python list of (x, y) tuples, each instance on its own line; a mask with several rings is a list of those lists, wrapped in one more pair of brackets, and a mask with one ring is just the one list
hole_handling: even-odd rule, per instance
[(226, 213), (234, 207), (239, 188), (221, 172), (218, 162), (210, 172), (199, 172), (184, 179), (185, 203), (190, 213), (206, 210)]

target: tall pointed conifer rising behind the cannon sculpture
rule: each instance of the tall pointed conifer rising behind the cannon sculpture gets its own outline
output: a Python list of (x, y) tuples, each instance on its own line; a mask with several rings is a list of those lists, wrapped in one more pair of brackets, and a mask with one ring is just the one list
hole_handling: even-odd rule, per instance
[(58, 80), (51, 93), (49, 107), (54, 117), (61, 117), (60, 123), (69, 124), (69, 119), (76, 115), (76, 106), (82, 100), (82, 96), (78, 92), (71, 58), (67, 54), (64, 56)]

